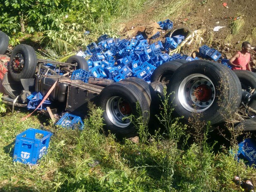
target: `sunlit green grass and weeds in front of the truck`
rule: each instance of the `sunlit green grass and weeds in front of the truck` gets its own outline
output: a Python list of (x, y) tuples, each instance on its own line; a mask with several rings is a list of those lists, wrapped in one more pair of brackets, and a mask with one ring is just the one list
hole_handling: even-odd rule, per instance
[[(102, 110), (93, 104), (82, 131), (56, 128), (49, 121), (43, 129), (54, 134), (47, 154), (34, 166), (12, 161), (14, 141), (27, 128), (42, 129), (45, 119), (39, 115), (21, 122), (24, 112), (2, 115), (0, 191), (239, 191), (233, 176), (239, 170), (241, 177), (250, 177), (253, 168), (243, 161), (237, 164), (228, 150), (214, 153), (207, 125), (196, 133), (201, 139), (187, 145), (186, 126), (172, 117), (167, 100), (158, 116), (164, 134), (149, 135), (140, 130), (142, 140), (138, 144), (104, 135)], [(151, 142), (145, 139), (149, 136)], [(100, 163), (90, 166), (96, 160)]]

